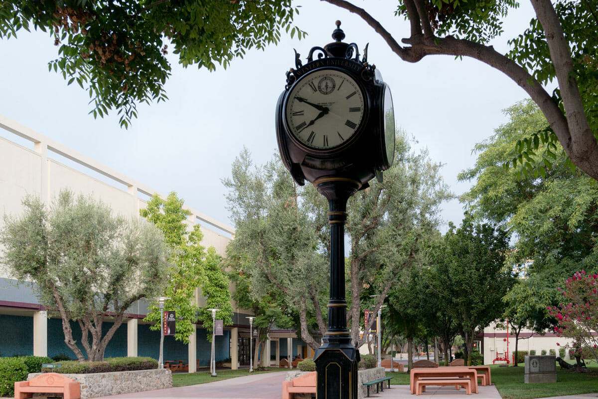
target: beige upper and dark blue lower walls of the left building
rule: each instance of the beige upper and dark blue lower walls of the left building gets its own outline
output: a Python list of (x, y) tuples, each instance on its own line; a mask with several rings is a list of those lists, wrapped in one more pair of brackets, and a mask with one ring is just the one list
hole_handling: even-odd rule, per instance
[[(14, 141), (13, 141), (14, 140)], [(20, 142), (23, 145), (17, 144)], [(75, 194), (91, 195), (111, 206), (114, 214), (124, 217), (139, 217), (139, 209), (145, 208), (148, 199), (157, 193), (151, 187), (125, 176), (116, 170), (96, 162), (59, 142), (53, 141), (15, 121), (0, 115), (0, 214), (20, 215), (22, 199), (26, 195), (38, 196), (42, 202), (51, 203), (63, 188)], [(176, 190), (175, 187), (173, 187)], [(225, 248), (234, 236), (234, 229), (196, 209), (185, 206), (191, 216), (187, 223), (199, 223), (203, 233), (202, 245), (214, 246), (216, 252), (225, 255)], [(4, 221), (0, 218), (0, 228)], [(2, 248), (0, 246), (0, 252)], [(35, 310), (42, 310), (30, 287), (19, 284), (11, 278), (8, 270), (0, 266), (0, 355), (33, 354), (33, 320)], [(198, 304), (203, 299), (197, 296)], [(236, 304), (233, 303), (236, 307)], [(240, 309), (236, 309), (239, 311)], [(138, 301), (128, 313), (145, 315), (147, 304)], [(243, 322), (245, 319), (243, 318)], [(104, 331), (111, 323), (105, 323)], [(19, 335), (13, 339), (10, 328), (18, 327)], [(77, 323), (71, 324), (75, 339), (80, 336)], [(64, 343), (62, 321), (48, 319), (48, 356), (66, 354), (74, 357)], [(10, 338), (9, 338), (10, 337)], [(216, 339), (216, 359), (230, 357), (228, 340), (230, 334)], [(149, 326), (138, 324), (138, 355), (158, 358), (160, 333), (150, 331)], [(206, 360), (205, 351), (208, 348)], [(200, 364), (209, 364), (210, 344), (206, 344), (205, 330), (197, 331), (197, 358)], [(127, 355), (127, 326), (118, 328), (105, 352), (106, 357)], [(188, 348), (172, 337), (166, 337), (164, 358), (187, 360)]]

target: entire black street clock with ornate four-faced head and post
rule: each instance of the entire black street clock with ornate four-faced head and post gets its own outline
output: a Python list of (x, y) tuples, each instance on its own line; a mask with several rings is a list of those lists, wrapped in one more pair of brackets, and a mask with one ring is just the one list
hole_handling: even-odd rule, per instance
[(359, 352), (347, 330), (345, 299), (347, 200), (374, 176), (382, 181), (392, 165), (395, 123), (390, 91), (367, 62), (367, 45), (359, 54), (355, 43), (342, 42), (340, 21), (336, 26), (334, 42), (312, 47), (306, 65), (295, 51), (295, 68), (286, 72), (276, 105), (276, 139), (297, 184), (312, 182), (328, 200), (330, 299), (328, 329), (313, 357), (317, 397), (357, 399)]

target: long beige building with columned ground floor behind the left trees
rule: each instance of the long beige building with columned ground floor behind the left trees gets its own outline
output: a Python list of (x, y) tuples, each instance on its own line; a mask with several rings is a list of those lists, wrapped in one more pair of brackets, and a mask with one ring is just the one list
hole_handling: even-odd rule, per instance
[[(142, 182), (0, 115), (0, 213), (20, 214), (21, 200), (28, 194), (38, 195), (42, 201), (50, 203), (62, 188), (77, 194), (90, 194), (111, 206), (114, 214), (127, 217), (139, 217), (139, 209), (144, 208), (147, 199), (156, 193)], [(173, 190), (176, 191), (176, 187)], [(196, 209), (187, 209), (191, 212), (188, 224), (201, 225), (202, 245), (213, 246), (218, 254), (224, 255), (234, 229)], [(0, 219), (0, 226), (1, 223)], [(0, 356), (72, 355), (63, 343), (60, 321), (48, 319), (32, 291), (25, 285), (17, 287), (15, 283), (7, 270), (0, 269)], [(199, 306), (205, 304), (198, 291), (195, 300)], [(249, 312), (238, 309), (236, 303), (233, 303), (233, 309), (233, 325), (226, 327), (224, 336), (216, 340), (216, 360), (230, 358), (231, 366), (237, 368), (238, 364), (248, 364), (249, 361), (249, 323), (246, 319)], [(106, 348), (106, 356), (157, 358), (159, 333), (149, 331), (142, 321), (147, 313), (146, 304), (134, 304), (130, 313), (131, 318), (118, 329)], [(14, 331), (19, 331), (17, 337), (14, 337)], [(189, 345), (165, 340), (164, 358), (187, 360), (190, 372), (196, 370), (197, 364), (207, 366), (210, 344), (205, 337), (206, 330), (196, 327)], [(281, 349), (283, 356), (286, 355), (286, 348), (291, 345), (300, 345), (298, 352), (303, 350), (302, 342), (295, 340), (294, 345), (289, 345), (287, 337), (288, 333), (273, 337), (267, 346), (272, 354), (267, 353), (264, 359), (274, 353), (279, 357)], [(296, 337), (295, 334), (292, 337)]]

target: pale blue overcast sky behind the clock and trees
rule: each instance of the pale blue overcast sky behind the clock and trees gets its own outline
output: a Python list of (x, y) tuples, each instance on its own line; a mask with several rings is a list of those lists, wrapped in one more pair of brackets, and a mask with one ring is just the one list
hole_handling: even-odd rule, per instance
[[(472, 182), (457, 174), (474, 165), (472, 148), (507, 122), (502, 110), (527, 98), (502, 72), (477, 60), (428, 56), (403, 62), (355, 14), (316, 0), (301, 0), (295, 25), (308, 33), (299, 41), (283, 33), (277, 45), (250, 50), (227, 69), (215, 72), (196, 66), (182, 68), (169, 56), (172, 76), (166, 83), (167, 102), (138, 106), (138, 119), (128, 130), (118, 125), (117, 112), (94, 119), (89, 94), (62, 75), (48, 72), (57, 57), (54, 39), (44, 32), (19, 32), (0, 40), (0, 114), (48, 136), (161, 193), (176, 191), (191, 208), (233, 226), (225, 206), (222, 179), (231, 163), (248, 148), (256, 165), (277, 156), (274, 129), (276, 100), (285, 86), (285, 72), (294, 67), (295, 48), (303, 59), (313, 46), (332, 41), (335, 20), (341, 20), (345, 42), (359, 49), (369, 43), (368, 61), (376, 65), (392, 90), (395, 123), (428, 150), (453, 193)], [(354, 1), (364, 7), (395, 39), (408, 36), (408, 23), (395, 17), (395, 2)], [(491, 44), (501, 53), (507, 39), (523, 32), (533, 10), (529, 2), (505, 19), (505, 33)], [(305, 62), (305, 61), (304, 61)], [(14, 140), (15, 136), (0, 136)], [(449, 221), (459, 224), (463, 205), (443, 204), (442, 232)]]

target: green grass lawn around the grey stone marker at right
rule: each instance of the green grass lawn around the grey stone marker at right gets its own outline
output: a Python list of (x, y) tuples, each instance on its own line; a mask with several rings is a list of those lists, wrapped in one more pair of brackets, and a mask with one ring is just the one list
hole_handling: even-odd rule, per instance
[[(492, 383), (503, 399), (535, 399), (552, 396), (579, 395), (598, 392), (598, 366), (588, 365), (591, 373), (572, 373), (561, 370), (557, 366), (557, 382), (526, 384), (523, 382), (525, 367), (492, 367)], [(390, 373), (386, 376), (393, 377), (391, 384), (407, 385), (408, 373)]]

